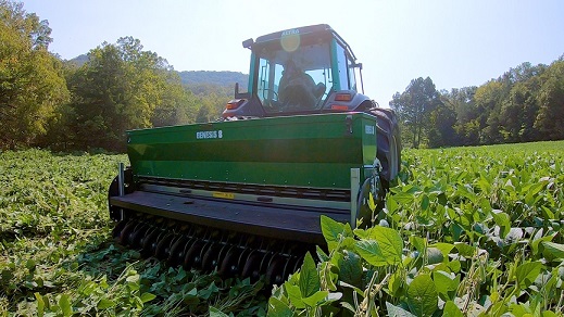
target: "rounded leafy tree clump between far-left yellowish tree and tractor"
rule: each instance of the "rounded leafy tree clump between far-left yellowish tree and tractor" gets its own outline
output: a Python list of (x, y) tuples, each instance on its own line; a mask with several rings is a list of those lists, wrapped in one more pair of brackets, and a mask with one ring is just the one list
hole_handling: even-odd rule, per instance
[(192, 121), (193, 102), (178, 75), (133, 37), (91, 50), (68, 83), (78, 148), (123, 150), (126, 130)]

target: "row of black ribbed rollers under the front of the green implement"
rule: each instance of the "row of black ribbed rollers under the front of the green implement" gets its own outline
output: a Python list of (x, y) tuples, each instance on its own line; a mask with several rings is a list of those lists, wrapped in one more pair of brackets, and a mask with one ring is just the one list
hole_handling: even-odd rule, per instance
[(154, 256), (170, 266), (216, 270), (222, 277), (264, 276), (267, 284), (280, 284), (303, 261), (305, 249), (296, 243), (253, 234), (221, 231), (202, 226), (179, 225), (174, 220), (130, 215), (114, 229), (116, 240), (141, 256)]

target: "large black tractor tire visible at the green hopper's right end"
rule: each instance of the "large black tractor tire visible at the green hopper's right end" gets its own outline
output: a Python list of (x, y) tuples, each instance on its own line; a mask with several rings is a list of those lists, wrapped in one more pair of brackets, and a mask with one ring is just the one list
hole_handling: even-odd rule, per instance
[(377, 119), (377, 153), (381, 164), (381, 182), (386, 190), (398, 176), (401, 168), (401, 135), (398, 116), (391, 109), (371, 109)]

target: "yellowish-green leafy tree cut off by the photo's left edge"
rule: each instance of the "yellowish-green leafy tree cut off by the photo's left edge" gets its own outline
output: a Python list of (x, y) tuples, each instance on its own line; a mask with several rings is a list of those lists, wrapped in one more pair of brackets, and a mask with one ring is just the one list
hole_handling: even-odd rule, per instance
[(68, 98), (47, 21), (0, 0), (0, 147), (29, 145)]

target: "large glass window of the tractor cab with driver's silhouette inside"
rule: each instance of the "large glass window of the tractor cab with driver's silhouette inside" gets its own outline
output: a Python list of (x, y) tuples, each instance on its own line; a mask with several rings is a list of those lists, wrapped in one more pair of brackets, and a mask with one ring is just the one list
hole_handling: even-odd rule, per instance
[(258, 80), (258, 97), (266, 113), (318, 110), (333, 83), (329, 45), (263, 48)]

